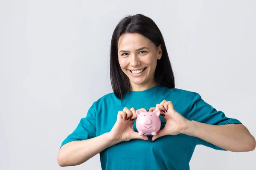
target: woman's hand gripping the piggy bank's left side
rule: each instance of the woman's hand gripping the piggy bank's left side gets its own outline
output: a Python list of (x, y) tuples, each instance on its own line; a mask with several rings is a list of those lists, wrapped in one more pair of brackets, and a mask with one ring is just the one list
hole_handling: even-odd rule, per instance
[[(142, 111), (144, 109), (141, 109)], [(146, 111), (146, 110), (145, 110)], [(131, 139), (148, 140), (145, 135), (139, 135), (133, 129), (134, 120), (137, 119), (135, 108), (124, 108), (123, 111), (117, 113), (115, 125), (110, 131), (111, 138), (117, 142), (129, 141)]]

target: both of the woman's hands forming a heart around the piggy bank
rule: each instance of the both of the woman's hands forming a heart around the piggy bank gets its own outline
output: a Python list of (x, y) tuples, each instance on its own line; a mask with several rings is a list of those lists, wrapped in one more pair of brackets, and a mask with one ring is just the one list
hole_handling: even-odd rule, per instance
[[(141, 111), (147, 111), (145, 108), (141, 108)], [(180, 113), (175, 111), (171, 101), (163, 100), (156, 107), (150, 108), (149, 111), (159, 110), (160, 115), (165, 119), (165, 127), (157, 132), (157, 135), (152, 137), (152, 141), (165, 135), (177, 135), (184, 133), (187, 129), (189, 120), (183, 117)], [(117, 120), (113, 128), (111, 129), (111, 138), (118, 142), (129, 141), (131, 139), (143, 139), (148, 140), (145, 135), (139, 135), (133, 129), (134, 120), (137, 119), (135, 108), (124, 108), (123, 111), (119, 111), (117, 114)]]

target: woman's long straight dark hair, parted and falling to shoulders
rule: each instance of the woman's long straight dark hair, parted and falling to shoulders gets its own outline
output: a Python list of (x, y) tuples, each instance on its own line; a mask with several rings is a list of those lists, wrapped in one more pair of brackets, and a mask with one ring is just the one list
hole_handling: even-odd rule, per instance
[(118, 62), (117, 43), (119, 37), (125, 33), (139, 33), (151, 40), (157, 47), (161, 44), (162, 57), (157, 60), (154, 80), (157, 85), (175, 88), (172, 66), (161, 31), (151, 18), (143, 14), (129, 15), (117, 24), (111, 39), (110, 79), (116, 97), (122, 100), (124, 93), (131, 90), (129, 78), (122, 71)]

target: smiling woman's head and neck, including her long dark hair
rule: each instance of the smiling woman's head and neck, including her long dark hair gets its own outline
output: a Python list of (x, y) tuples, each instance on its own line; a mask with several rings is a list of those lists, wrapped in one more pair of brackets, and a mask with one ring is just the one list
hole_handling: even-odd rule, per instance
[(110, 60), (111, 85), (119, 99), (128, 91), (154, 85), (175, 88), (163, 36), (149, 17), (137, 14), (117, 24), (111, 39)]

